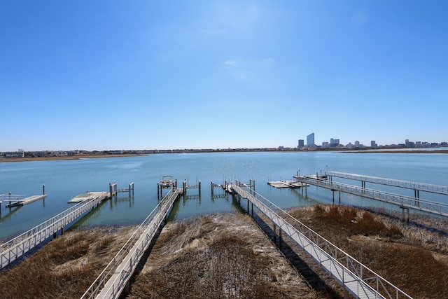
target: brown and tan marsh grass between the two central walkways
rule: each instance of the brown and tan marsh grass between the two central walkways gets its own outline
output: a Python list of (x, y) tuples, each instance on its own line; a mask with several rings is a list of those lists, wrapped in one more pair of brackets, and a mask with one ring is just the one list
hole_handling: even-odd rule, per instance
[(321, 298), (246, 215), (169, 223), (129, 298)]

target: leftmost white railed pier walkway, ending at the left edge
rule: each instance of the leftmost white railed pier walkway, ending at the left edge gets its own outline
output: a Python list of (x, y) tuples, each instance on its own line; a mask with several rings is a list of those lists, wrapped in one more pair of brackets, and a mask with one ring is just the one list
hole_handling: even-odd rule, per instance
[(0, 270), (10, 263), (13, 263), (14, 260), (22, 257), (38, 244), (41, 244), (41, 242), (44, 242), (48, 237), (55, 237), (59, 230), (63, 232), (66, 225), (87, 211), (90, 211), (90, 209), (102, 202), (106, 197), (108, 197), (108, 193), (106, 192), (95, 193), (95, 196), (89, 200), (76, 204), (61, 214), (24, 232), (22, 235), (0, 244)]

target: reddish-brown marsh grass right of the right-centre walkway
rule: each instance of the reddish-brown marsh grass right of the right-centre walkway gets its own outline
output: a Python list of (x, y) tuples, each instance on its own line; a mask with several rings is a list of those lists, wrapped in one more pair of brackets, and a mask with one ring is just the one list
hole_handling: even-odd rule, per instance
[(414, 298), (448, 298), (446, 232), (334, 205), (290, 214)]

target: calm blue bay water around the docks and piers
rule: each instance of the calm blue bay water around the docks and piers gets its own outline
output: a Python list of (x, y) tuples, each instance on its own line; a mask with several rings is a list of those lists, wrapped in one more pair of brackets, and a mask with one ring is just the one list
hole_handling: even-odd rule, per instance
[[(423, 153), (188, 153), (144, 155), (123, 158), (59, 160), (0, 163), (0, 194), (39, 195), (45, 185), (48, 197), (24, 207), (7, 209), (1, 204), (0, 239), (18, 235), (71, 207), (71, 197), (90, 191), (108, 191), (109, 183), (127, 188), (134, 182), (134, 196), (119, 193), (104, 202), (77, 225), (127, 225), (141, 223), (157, 204), (157, 183), (162, 176), (172, 175), (178, 186), (186, 179), (190, 185), (202, 183), (201, 195), (197, 189), (188, 189), (188, 196), (177, 202), (170, 218), (181, 219), (215, 211), (239, 210), (232, 196), (216, 188), (211, 195), (210, 182), (223, 183), (240, 179), (255, 180), (255, 190), (279, 207), (332, 202), (330, 190), (310, 186), (307, 196), (300, 189), (276, 189), (267, 181), (293, 179), (297, 174), (316, 174), (325, 170), (382, 176), (390, 179), (433, 183), (447, 186), (448, 155)], [(352, 182), (352, 184), (357, 184)], [(360, 185), (360, 183), (359, 183)], [(377, 188), (369, 186), (367, 188)], [(412, 190), (393, 190), (393, 193), (414, 195)], [(448, 196), (420, 193), (421, 198), (448, 202)], [(353, 195), (342, 194), (342, 203), (379, 205)]]

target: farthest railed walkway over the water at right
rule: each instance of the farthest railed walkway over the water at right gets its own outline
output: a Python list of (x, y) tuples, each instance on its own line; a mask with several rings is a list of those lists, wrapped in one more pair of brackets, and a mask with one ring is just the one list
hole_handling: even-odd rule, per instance
[(355, 181), (365, 181), (368, 183), (377, 183), (380, 185), (407, 188), (412, 190), (420, 190), (430, 193), (448, 195), (448, 186), (439, 186), (429, 183), (416, 183), (413, 181), (401, 181), (396, 179), (386, 179), (377, 176), (363, 176), (360, 174), (348, 174), (345, 172), (325, 172), (328, 176), (335, 176), (341, 179), (351, 179)]

